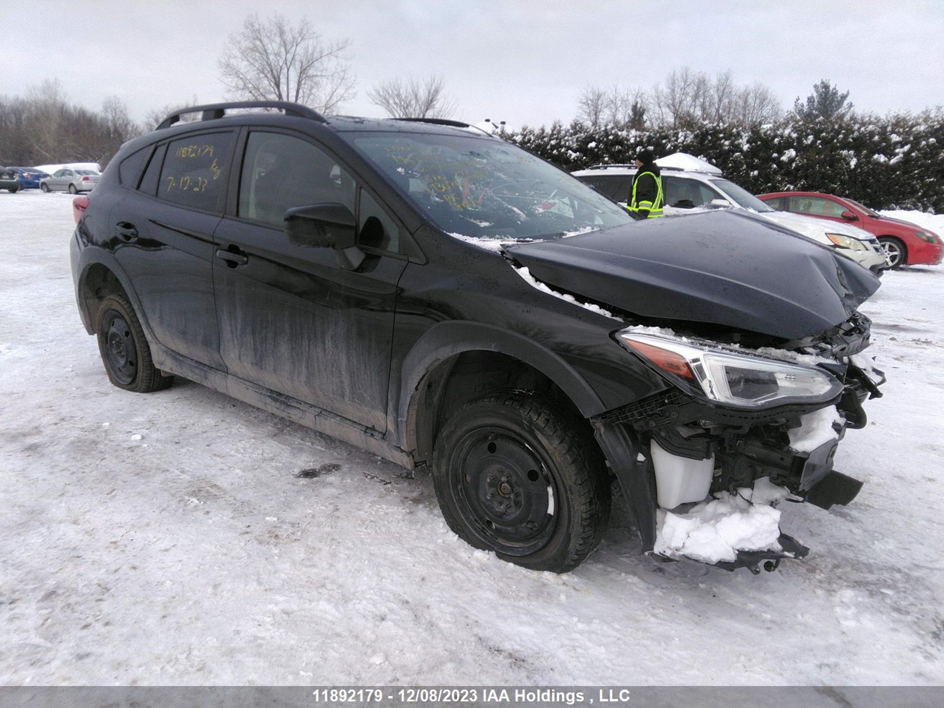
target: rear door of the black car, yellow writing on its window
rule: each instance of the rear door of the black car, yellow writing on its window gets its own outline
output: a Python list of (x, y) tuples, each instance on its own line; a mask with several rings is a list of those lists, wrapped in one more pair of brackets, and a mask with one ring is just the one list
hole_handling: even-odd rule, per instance
[[(226, 204), (235, 131), (157, 143), (137, 189), (111, 211), (115, 258), (158, 342), (224, 369), (213, 303), (213, 231)], [(132, 185), (134, 187), (134, 185)]]

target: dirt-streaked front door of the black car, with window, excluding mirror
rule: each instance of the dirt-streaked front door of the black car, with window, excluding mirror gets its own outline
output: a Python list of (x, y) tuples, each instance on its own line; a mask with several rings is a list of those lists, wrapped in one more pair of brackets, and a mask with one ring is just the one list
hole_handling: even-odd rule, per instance
[[(386, 430), (396, 283), (407, 261), (399, 228), (338, 160), (309, 139), (251, 130), (239, 194), (216, 230), (213, 287), (220, 353), (231, 375)], [(366, 259), (290, 244), (293, 207), (346, 205)]]

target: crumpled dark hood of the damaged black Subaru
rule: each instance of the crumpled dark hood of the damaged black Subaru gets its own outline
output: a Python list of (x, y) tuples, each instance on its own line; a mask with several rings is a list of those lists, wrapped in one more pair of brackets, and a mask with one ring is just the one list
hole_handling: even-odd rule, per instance
[(865, 268), (745, 211), (651, 219), (506, 247), (538, 280), (642, 317), (799, 339), (879, 288)]

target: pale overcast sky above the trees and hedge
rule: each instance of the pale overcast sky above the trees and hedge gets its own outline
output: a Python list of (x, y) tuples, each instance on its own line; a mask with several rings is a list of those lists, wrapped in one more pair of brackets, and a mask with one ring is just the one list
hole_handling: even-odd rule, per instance
[(648, 88), (682, 66), (764, 82), (784, 108), (824, 77), (859, 110), (944, 104), (940, 0), (0, 0), (0, 94), (58, 76), (73, 102), (117, 94), (135, 118), (222, 100), (216, 60), (256, 11), (351, 41), (358, 93), (339, 112), (355, 115), (381, 114), (366, 97), (376, 82), (435, 73), (455, 118), (537, 125), (572, 118), (588, 83)]

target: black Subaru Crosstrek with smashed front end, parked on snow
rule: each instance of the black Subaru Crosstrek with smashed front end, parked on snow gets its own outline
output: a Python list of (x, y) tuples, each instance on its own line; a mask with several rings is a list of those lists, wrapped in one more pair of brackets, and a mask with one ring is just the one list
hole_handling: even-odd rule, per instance
[(644, 552), (754, 571), (807, 548), (777, 512), (705, 551), (706, 504), (861, 487), (833, 456), (884, 381), (877, 279), (750, 213), (635, 222), (462, 123), (180, 111), (111, 160), (71, 256), (116, 386), (192, 379), (429, 470), (519, 565), (579, 565), (614, 481)]

